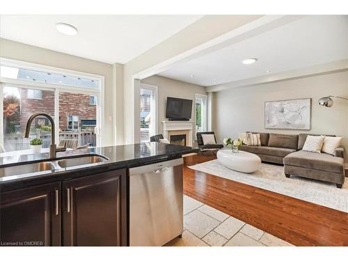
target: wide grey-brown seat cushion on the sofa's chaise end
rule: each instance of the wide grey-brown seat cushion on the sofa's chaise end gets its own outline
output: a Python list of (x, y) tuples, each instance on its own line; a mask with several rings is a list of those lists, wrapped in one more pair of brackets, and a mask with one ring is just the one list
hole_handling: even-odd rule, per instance
[(299, 150), (284, 158), (285, 165), (312, 168), (319, 171), (342, 173), (344, 171), (344, 160), (326, 153), (315, 153)]

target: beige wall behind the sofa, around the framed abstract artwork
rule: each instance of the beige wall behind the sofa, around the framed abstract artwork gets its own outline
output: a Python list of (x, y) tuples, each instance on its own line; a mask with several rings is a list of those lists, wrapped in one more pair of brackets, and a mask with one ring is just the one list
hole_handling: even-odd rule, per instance
[[(327, 95), (348, 97), (348, 72), (280, 81), (224, 90), (214, 93), (212, 120), (217, 139), (237, 137), (246, 131), (274, 133), (335, 134), (345, 137), (345, 160), (348, 162), (348, 102), (335, 99), (331, 108), (317, 101)], [(310, 131), (264, 129), (264, 102), (312, 98), (312, 128)]]

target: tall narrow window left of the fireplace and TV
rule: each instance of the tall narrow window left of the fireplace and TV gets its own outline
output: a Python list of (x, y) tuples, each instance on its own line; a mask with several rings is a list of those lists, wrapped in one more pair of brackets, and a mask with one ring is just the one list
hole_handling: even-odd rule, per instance
[(157, 134), (157, 87), (142, 84), (140, 89), (141, 142), (150, 141)]

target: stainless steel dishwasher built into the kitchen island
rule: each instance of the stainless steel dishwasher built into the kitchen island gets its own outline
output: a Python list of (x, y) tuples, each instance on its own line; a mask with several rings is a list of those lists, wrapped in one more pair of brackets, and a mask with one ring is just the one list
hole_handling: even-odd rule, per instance
[(183, 232), (182, 164), (129, 168), (129, 245), (163, 246)]

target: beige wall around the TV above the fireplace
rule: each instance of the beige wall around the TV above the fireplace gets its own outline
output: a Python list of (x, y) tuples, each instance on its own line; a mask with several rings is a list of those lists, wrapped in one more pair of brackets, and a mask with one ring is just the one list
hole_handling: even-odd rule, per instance
[[(188, 84), (184, 81), (177, 81), (166, 77), (154, 75), (141, 80), (142, 84), (150, 84), (158, 88), (158, 134), (163, 134), (162, 121), (166, 118), (167, 97), (179, 97), (182, 99), (195, 100), (195, 94), (207, 94), (205, 88), (195, 84)], [(194, 102), (192, 106), (191, 120), (194, 121)], [(193, 134), (195, 135), (195, 134)], [(194, 138), (194, 137), (193, 137)], [(192, 139), (193, 139), (192, 138)], [(194, 141), (194, 139), (193, 139)]]

